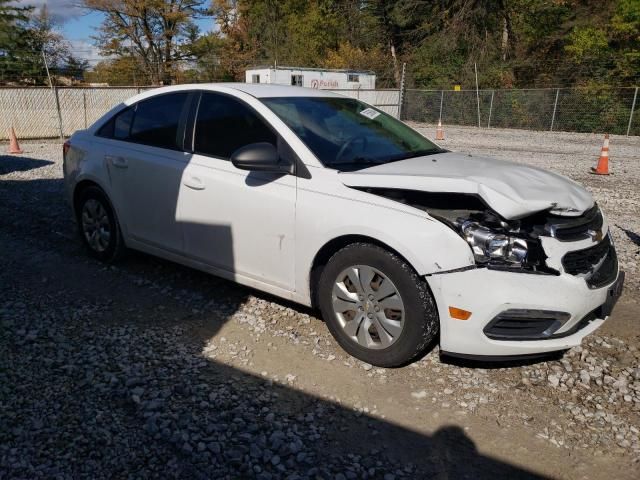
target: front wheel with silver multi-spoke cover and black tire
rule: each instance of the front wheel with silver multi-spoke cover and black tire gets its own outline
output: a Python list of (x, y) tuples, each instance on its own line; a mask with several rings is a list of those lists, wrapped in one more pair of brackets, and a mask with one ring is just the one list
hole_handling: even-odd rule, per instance
[(379, 367), (411, 362), (438, 333), (427, 283), (402, 258), (376, 245), (356, 243), (336, 252), (320, 276), (318, 303), (342, 348)]

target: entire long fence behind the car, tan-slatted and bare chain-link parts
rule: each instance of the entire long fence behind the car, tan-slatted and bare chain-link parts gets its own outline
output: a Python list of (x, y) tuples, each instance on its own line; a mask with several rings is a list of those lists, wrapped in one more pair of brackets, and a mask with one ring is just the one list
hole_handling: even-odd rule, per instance
[[(69, 136), (144, 89), (0, 88), (0, 139), (7, 139), (12, 126), (18, 138)], [(640, 135), (637, 88), (332, 91), (416, 122)]]

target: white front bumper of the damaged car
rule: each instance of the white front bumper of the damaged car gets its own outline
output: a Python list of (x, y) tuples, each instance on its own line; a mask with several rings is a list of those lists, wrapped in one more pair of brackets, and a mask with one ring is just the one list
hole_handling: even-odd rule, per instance
[[(566, 350), (598, 329), (620, 296), (624, 273), (601, 288), (584, 278), (537, 275), (476, 268), (427, 277), (440, 313), (440, 349), (464, 356), (514, 357)], [(614, 288), (615, 287), (615, 288)], [(449, 316), (449, 307), (471, 313), (468, 320)], [(566, 312), (570, 316), (548, 338), (489, 338), (485, 327), (508, 310)]]

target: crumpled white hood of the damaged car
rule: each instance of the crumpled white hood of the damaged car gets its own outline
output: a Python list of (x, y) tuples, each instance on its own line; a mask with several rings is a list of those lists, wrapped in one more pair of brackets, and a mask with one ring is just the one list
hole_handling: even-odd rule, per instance
[(558, 215), (576, 216), (594, 204), (587, 190), (562, 175), (453, 152), (340, 172), (338, 178), (350, 187), (475, 194), (509, 220), (550, 208)]

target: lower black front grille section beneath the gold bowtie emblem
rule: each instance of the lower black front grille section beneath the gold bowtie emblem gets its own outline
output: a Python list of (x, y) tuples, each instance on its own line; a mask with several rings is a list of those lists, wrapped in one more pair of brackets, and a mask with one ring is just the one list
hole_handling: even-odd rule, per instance
[(567, 253), (562, 257), (562, 266), (565, 272), (584, 276), (590, 287), (598, 288), (615, 279), (618, 259), (611, 238), (607, 235), (593, 247)]

